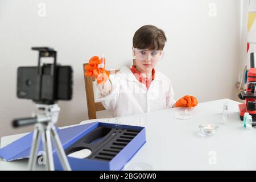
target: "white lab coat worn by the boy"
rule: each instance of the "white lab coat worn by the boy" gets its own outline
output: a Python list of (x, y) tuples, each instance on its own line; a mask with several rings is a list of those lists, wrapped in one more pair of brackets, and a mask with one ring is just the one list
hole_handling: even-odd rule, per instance
[(113, 117), (168, 109), (176, 102), (170, 79), (158, 71), (155, 71), (154, 80), (148, 89), (127, 67), (110, 75), (109, 80), (112, 82), (110, 94), (102, 96), (96, 92), (95, 96)]

